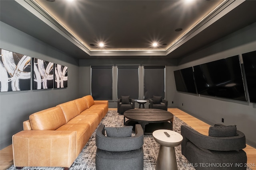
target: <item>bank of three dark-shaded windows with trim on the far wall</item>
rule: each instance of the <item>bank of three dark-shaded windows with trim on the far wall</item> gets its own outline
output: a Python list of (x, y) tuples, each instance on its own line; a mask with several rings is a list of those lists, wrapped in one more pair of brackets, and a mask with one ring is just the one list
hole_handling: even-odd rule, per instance
[(165, 66), (91, 66), (94, 100), (165, 98)]

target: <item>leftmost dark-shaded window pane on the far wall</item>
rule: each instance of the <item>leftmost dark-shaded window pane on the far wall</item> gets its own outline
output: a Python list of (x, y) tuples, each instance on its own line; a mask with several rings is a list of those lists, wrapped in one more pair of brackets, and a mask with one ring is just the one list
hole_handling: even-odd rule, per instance
[(92, 66), (91, 74), (94, 100), (112, 100), (112, 66)]

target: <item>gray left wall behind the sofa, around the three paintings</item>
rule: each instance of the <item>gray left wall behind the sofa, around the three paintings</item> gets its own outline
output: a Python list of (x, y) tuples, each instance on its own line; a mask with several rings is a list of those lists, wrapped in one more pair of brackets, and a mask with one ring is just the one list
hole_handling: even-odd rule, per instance
[(0, 93), (0, 148), (11, 144), (12, 135), (36, 111), (78, 98), (78, 60), (38, 39), (0, 23), (0, 48), (68, 66), (68, 88)]

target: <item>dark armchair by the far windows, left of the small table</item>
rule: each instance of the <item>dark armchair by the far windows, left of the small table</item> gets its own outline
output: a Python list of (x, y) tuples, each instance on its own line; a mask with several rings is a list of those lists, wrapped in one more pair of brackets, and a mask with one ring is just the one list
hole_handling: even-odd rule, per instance
[(134, 109), (135, 100), (131, 99), (130, 96), (121, 96), (117, 101), (117, 112), (123, 115), (126, 110)]

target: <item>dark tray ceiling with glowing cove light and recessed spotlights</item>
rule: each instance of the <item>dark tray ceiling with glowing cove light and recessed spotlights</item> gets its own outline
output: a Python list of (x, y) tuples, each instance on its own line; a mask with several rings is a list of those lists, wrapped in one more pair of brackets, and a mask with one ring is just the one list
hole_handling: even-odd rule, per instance
[(77, 59), (176, 59), (254, 23), (255, 6), (251, 0), (1, 0), (0, 20)]

